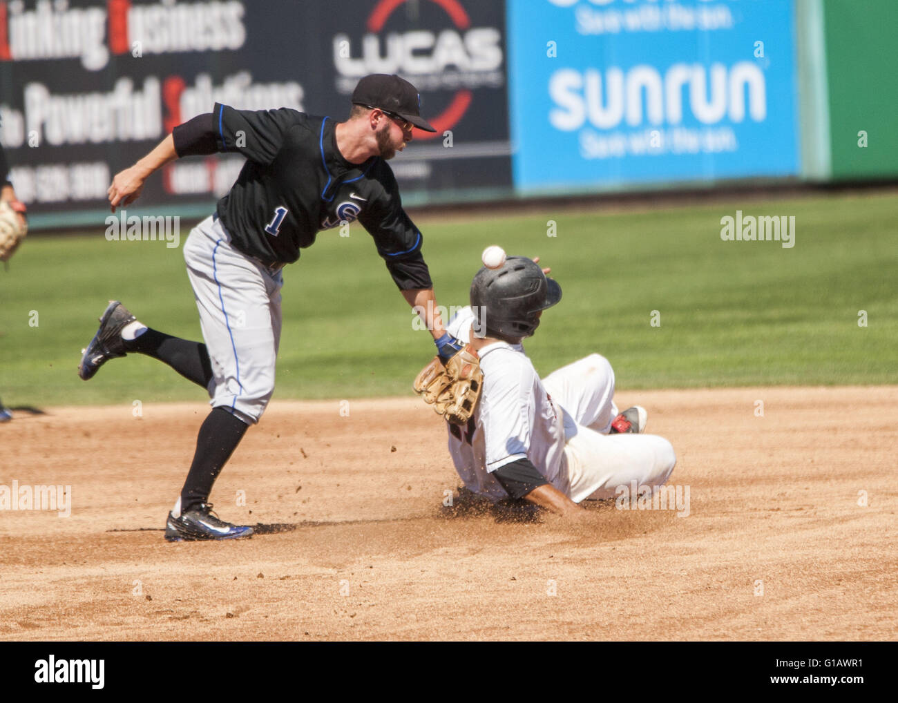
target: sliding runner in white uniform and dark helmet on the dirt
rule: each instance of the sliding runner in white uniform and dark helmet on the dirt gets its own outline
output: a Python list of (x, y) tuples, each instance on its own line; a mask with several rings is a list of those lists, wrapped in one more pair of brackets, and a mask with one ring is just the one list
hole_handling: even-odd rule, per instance
[[(614, 373), (604, 356), (585, 356), (545, 379), (536, 373), (522, 341), (560, 300), (561, 286), (537, 263), (503, 253), (501, 263), (480, 268), (471, 307), (448, 325), (450, 334), (470, 343), (462, 354), (470, 350), (479, 373), (468, 368), (462, 382), (441, 386), (426, 367), (415, 387), (425, 400), (432, 400), (426, 386), (440, 389), (437, 412), (441, 400), (452, 410), (445, 413), (449, 453), (465, 488), (493, 501), (524, 498), (575, 516), (579, 503), (614, 497), (617, 487), (632, 481), (663, 485), (676, 456), (666, 439), (643, 434), (645, 409), (618, 412)], [(457, 402), (475, 395), (476, 404)], [(467, 417), (463, 407), (471, 409)]]

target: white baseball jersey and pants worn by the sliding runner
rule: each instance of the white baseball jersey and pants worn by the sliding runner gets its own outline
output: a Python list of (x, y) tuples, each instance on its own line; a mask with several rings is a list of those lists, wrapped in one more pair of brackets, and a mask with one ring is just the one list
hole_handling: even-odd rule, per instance
[[(470, 307), (447, 326), (470, 341)], [(480, 402), (467, 427), (446, 423), (449, 453), (464, 485), (492, 500), (507, 497), (492, 472), (527, 458), (575, 503), (615, 496), (618, 486), (660, 486), (674, 470), (674, 448), (656, 435), (608, 435), (618, 414), (614, 372), (591, 354), (541, 381), (520, 344), (496, 342), (478, 352)]]

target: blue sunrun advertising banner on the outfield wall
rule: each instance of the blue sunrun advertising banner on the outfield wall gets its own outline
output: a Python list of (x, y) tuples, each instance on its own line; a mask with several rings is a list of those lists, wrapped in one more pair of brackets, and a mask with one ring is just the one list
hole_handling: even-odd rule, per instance
[(797, 174), (791, 0), (508, 0), (521, 192)]

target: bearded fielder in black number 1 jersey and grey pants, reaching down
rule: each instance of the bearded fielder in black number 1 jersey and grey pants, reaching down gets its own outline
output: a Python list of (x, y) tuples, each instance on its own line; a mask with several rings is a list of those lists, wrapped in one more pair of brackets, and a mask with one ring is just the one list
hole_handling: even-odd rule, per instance
[(147, 328), (113, 301), (78, 368), (86, 381), (110, 358), (137, 352), (207, 389), (213, 409), (199, 429), (187, 480), (166, 522), (166, 540), (251, 536), (251, 527), (212, 514), (208, 496), (274, 391), (281, 269), (299, 259), (300, 250), (311, 246), (321, 230), (358, 220), (403, 297), (426, 311), (439, 355), (448, 359), (461, 348), (436, 312), (421, 233), (402, 209), (386, 163), (405, 148), (413, 127), (435, 130), (419, 114), (414, 86), (397, 75), (366, 76), (352, 103), (345, 122), (296, 110), (234, 110), (216, 104), (211, 113), (175, 127), (112, 181), (114, 212), (140, 195), (151, 173), (176, 158), (218, 152), (246, 157), (215, 214), (198, 224), (184, 245), (206, 344)]

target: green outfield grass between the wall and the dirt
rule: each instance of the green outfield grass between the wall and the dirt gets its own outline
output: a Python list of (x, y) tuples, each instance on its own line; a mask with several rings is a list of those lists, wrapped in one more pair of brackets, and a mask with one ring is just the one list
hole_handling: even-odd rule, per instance
[[(720, 218), (737, 209), (795, 215), (795, 247), (721, 241)], [(894, 195), (734, 198), (616, 215), (459, 212), (454, 222), (421, 220), (441, 304), (467, 302), (480, 251), (492, 243), (541, 256), (564, 288), (527, 342), (540, 373), (598, 351), (619, 389), (898, 382)], [(427, 332), (412, 330), (361, 226), (346, 238), (321, 233), (285, 280), (276, 398), (410, 394), (434, 347)], [(142, 356), (78, 379), (80, 350), (110, 298), (151, 327), (200, 338), (180, 249), (107, 242), (99, 226), (26, 241), (0, 271), (0, 398), (11, 406), (202, 400), (202, 391)], [(660, 327), (651, 326), (652, 311)]]

